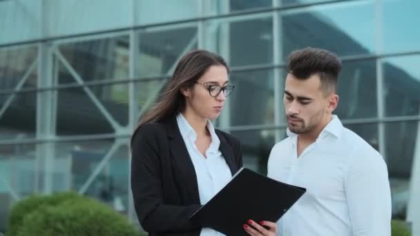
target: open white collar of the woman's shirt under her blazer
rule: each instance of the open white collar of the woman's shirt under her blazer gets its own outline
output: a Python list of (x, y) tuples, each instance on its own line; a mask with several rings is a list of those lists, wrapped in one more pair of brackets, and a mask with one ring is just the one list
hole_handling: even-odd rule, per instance
[[(192, 141), (195, 141), (197, 139), (197, 133), (195, 130), (190, 126), (187, 119), (179, 113), (176, 116), (176, 121), (178, 123), (178, 127), (180, 128), (180, 132), (183, 139), (188, 139), (190, 136), (192, 138)], [(219, 149), (220, 146), (220, 139), (218, 135), (216, 135), (216, 131), (214, 130), (213, 124), (211, 124), (211, 121), (207, 120), (207, 130), (209, 130), (210, 137), (211, 137), (211, 144), (210, 148), (215, 148), (215, 150)]]

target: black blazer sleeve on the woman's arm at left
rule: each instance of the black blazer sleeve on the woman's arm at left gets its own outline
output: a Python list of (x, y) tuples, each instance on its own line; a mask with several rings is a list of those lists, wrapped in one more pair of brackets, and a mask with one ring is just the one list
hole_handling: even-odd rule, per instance
[(157, 126), (145, 124), (133, 137), (131, 190), (137, 217), (144, 230), (148, 232), (198, 230), (200, 226), (191, 222), (189, 217), (201, 207), (200, 205), (164, 204), (162, 190), (162, 181), (164, 180), (160, 166), (161, 156)]

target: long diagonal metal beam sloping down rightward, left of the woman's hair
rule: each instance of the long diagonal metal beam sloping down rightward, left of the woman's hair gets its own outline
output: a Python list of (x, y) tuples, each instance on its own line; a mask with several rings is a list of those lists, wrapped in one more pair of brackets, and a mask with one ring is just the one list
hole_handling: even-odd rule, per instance
[[(61, 54), (58, 48), (54, 50), (54, 54), (58, 57), (59, 61), (63, 63), (64, 67), (68, 70), (68, 72), (70, 72), (70, 75), (73, 76), (75, 81), (79, 83), (80, 85), (83, 85), (84, 82), (83, 82), (82, 77), (80, 77), (80, 75), (75, 71), (75, 69), (73, 69), (70, 63), (68, 63), (68, 61), (64, 58), (64, 56)], [(108, 112), (108, 110), (106, 110), (104, 105), (102, 105), (101, 101), (97, 99), (96, 95), (92, 92), (92, 90), (90, 90), (90, 88), (86, 86), (83, 86), (82, 88), (84, 92), (86, 92), (90, 100), (93, 101), (93, 104), (95, 104), (95, 106), (99, 109), (99, 111), (102, 112), (102, 115), (104, 115), (104, 117), (109, 121), (111, 126), (113, 126), (114, 130), (117, 131), (117, 130), (122, 129), (122, 126), (120, 126), (120, 124), (118, 124), (118, 122), (115, 121), (113, 116)]]

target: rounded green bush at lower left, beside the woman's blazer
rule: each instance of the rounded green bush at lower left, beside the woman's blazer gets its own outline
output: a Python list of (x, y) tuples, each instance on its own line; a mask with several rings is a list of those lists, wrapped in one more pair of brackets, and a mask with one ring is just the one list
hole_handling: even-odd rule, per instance
[[(29, 211), (24, 213), (24, 209)], [(12, 215), (15, 219), (11, 219)], [(126, 217), (76, 193), (32, 196), (19, 201), (12, 208), (9, 226), (12, 228), (8, 228), (8, 236), (139, 235)]]

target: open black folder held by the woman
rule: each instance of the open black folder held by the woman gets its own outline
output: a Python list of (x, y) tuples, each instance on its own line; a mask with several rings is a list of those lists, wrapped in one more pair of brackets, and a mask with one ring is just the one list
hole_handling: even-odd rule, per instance
[(248, 219), (277, 222), (305, 192), (305, 188), (241, 168), (225, 188), (190, 219), (203, 228), (213, 228), (225, 235), (247, 235), (243, 224)]

